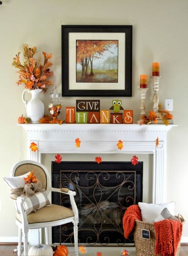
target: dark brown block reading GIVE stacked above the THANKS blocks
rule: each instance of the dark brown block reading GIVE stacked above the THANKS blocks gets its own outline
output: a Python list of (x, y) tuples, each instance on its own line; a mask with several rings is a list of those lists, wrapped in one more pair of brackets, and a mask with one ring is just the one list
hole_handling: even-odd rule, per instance
[(98, 112), (100, 111), (100, 100), (76, 100), (76, 111)]

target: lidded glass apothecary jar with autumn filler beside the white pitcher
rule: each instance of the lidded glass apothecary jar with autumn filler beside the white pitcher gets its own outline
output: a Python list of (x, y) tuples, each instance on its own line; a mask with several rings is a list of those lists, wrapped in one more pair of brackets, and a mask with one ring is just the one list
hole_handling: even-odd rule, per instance
[(50, 102), (48, 104), (48, 110), (52, 115), (53, 119), (56, 119), (60, 113), (60, 109), (62, 108), (60, 99), (60, 93), (57, 92), (56, 85), (54, 85), (53, 92), (50, 93)]

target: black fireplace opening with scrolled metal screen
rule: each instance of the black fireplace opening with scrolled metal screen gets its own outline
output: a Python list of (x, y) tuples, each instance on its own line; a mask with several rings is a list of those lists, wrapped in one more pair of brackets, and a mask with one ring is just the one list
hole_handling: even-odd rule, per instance
[[(52, 162), (52, 186), (76, 191), (78, 240), (88, 245), (134, 243), (123, 235), (126, 209), (142, 202), (143, 162)], [(69, 197), (52, 192), (52, 204), (71, 208)], [(74, 243), (71, 223), (52, 228), (53, 243)]]

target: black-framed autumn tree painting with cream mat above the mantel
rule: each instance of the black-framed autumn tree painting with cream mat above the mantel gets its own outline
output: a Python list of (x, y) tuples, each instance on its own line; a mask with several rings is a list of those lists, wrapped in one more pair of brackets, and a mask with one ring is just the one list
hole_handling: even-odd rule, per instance
[(132, 26), (62, 25), (62, 96), (132, 96)]

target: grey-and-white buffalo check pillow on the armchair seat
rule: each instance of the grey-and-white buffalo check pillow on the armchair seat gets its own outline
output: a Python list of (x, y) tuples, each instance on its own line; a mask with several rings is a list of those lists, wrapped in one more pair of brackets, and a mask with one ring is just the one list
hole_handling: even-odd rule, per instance
[(40, 192), (37, 192), (31, 196), (21, 197), (24, 198), (23, 205), (26, 215), (44, 206), (51, 205), (45, 189), (42, 189)]

